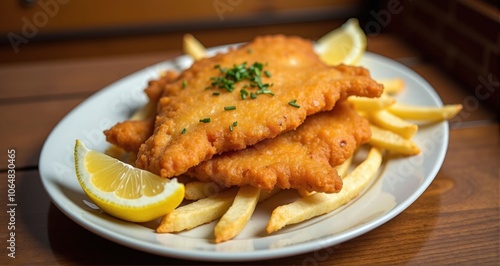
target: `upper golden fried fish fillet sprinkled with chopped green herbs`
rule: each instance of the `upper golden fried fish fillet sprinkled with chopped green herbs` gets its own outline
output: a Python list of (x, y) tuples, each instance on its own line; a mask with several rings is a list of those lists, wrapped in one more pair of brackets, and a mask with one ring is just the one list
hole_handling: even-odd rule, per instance
[[(258, 78), (259, 88), (244, 81), (234, 82), (232, 92), (210, 86), (223, 78), (224, 70), (255, 63), (264, 66), (266, 73)], [(265, 91), (259, 95), (262, 88)], [(243, 90), (258, 97), (242, 99)], [(136, 166), (174, 177), (216, 154), (293, 130), (308, 115), (331, 110), (339, 99), (377, 97), (382, 90), (364, 68), (322, 63), (310, 41), (282, 35), (258, 37), (196, 61), (165, 85), (154, 133), (141, 145)]]

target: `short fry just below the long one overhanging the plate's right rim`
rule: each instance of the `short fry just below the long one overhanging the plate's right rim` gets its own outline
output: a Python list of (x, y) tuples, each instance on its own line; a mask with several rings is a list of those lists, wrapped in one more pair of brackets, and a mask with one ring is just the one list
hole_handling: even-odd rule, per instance
[(390, 130), (405, 139), (411, 139), (418, 130), (417, 125), (403, 120), (387, 110), (373, 112), (369, 117), (375, 125)]

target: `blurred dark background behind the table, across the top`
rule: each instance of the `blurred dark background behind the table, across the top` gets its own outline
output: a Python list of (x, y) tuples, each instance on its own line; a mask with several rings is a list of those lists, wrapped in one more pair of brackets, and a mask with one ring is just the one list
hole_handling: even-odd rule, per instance
[[(2, 0), (0, 64), (181, 52), (282, 33), (316, 40), (357, 17), (370, 38), (390, 33), (466, 89), (489, 83), (499, 108), (498, 0)], [(493, 84), (493, 85), (491, 85)]]

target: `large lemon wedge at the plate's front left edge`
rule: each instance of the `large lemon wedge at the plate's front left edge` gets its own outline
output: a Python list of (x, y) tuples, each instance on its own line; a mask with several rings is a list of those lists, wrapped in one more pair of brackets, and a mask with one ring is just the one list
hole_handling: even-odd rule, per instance
[(184, 199), (184, 185), (135, 168), (76, 140), (78, 182), (103, 211), (130, 222), (147, 222), (174, 210)]

